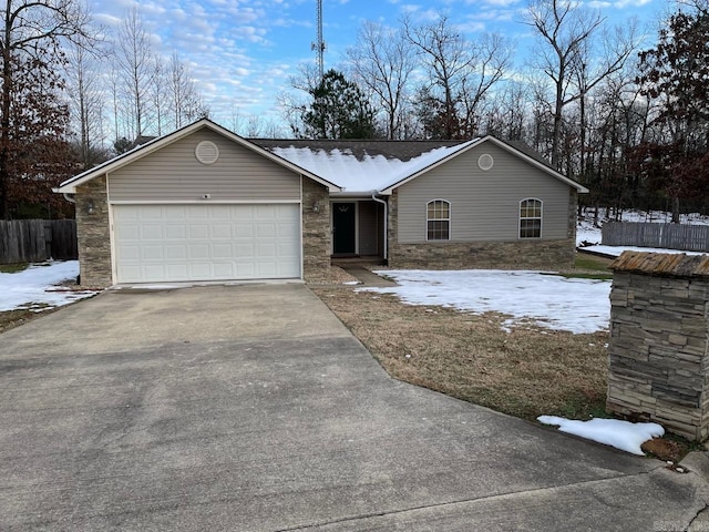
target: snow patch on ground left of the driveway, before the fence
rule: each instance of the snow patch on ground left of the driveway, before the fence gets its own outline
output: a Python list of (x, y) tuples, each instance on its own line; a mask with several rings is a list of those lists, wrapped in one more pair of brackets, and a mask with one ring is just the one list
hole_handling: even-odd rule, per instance
[(41, 311), (93, 296), (95, 291), (62, 289), (61, 283), (79, 275), (79, 260), (32, 264), (14, 274), (0, 273), (0, 311)]

